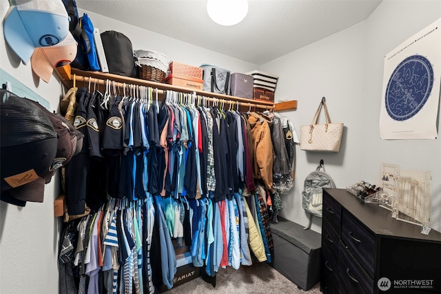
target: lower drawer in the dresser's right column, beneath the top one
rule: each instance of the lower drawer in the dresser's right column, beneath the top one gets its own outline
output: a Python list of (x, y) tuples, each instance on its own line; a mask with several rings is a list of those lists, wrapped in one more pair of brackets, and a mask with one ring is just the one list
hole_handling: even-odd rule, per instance
[(340, 261), (338, 270), (342, 282), (350, 293), (373, 293), (373, 280), (366, 271), (356, 262), (345, 244), (340, 243)]

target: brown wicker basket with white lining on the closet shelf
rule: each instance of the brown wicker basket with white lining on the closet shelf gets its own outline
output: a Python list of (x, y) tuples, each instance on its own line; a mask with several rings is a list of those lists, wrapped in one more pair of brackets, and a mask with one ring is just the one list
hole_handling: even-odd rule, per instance
[(134, 50), (133, 54), (140, 78), (158, 83), (165, 81), (170, 63), (165, 54), (152, 50)]

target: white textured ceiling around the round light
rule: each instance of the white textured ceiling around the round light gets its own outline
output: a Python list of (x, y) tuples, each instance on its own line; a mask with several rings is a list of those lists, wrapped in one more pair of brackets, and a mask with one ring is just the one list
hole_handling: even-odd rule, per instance
[(381, 0), (249, 0), (237, 25), (209, 19), (206, 0), (76, 0), (79, 8), (263, 65), (365, 21)]

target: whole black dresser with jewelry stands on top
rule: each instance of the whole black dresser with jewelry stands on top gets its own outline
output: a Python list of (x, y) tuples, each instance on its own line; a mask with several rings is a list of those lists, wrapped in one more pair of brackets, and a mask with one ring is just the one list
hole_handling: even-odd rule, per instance
[(345, 189), (323, 189), (323, 293), (441, 293), (441, 233)]

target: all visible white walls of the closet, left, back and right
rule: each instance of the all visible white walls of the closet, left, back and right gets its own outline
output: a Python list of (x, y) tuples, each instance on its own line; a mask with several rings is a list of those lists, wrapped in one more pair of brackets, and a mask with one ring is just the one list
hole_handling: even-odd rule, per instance
[[(8, 1), (0, 1), (2, 20), (7, 10)], [(101, 32), (116, 30), (128, 36), (134, 49), (163, 52), (170, 59), (195, 66), (213, 63), (232, 72), (256, 70), (254, 64), (97, 14), (88, 14)], [(307, 154), (297, 148), (295, 186), (289, 195), (283, 196), (283, 216), (300, 224), (307, 223), (300, 193), (303, 180), (321, 158), (338, 187), (361, 179), (375, 182), (380, 162), (396, 163), (408, 169), (429, 169), (433, 171), (433, 202), (441, 211), (439, 140), (378, 139), (382, 58), (439, 17), (441, 1), (384, 1), (364, 23), (260, 68), (280, 76), (276, 99), (298, 100), (298, 110), (284, 113), (298, 129), (300, 125), (310, 123), (322, 96), (327, 98), (331, 119), (342, 121), (346, 126), (338, 154)], [(3, 25), (0, 34), (3, 35)], [(49, 84), (39, 80), (32, 74), (30, 65), (20, 63), (3, 37), (0, 37), (0, 67), (50, 101), (51, 110), (58, 109), (61, 84), (57, 78), (52, 76)], [(408, 158), (415, 149), (422, 152)], [(58, 292), (57, 255), (61, 223), (53, 217), (53, 200), (59, 193), (58, 180), (54, 178), (46, 185), (43, 203), (29, 202), (19, 208), (0, 202), (0, 293)], [(440, 217), (435, 218), (435, 211), (432, 215), (440, 231)], [(320, 220), (314, 222), (313, 229), (320, 230)]]

